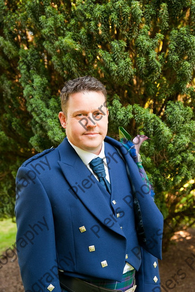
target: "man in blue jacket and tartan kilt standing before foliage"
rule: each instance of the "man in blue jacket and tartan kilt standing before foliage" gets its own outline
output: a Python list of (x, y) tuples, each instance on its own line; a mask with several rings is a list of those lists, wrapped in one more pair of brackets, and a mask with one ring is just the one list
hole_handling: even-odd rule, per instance
[(16, 179), (25, 291), (160, 291), (162, 214), (131, 156), (106, 137), (104, 86), (81, 77), (60, 98), (67, 137)]

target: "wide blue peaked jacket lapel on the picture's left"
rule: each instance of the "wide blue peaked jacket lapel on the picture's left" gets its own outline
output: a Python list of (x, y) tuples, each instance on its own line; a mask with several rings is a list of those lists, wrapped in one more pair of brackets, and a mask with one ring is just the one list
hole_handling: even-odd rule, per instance
[[(84, 165), (67, 139), (64, 139), (57, 149), (60, 155), (58, 165), (75, 196), (79, 197), (89, 211), (105, 225), (104, 221), (112, 214), (112, 209), (107, 203), (101, 187), (99, 187), (99, 182)], [(124, 236), (118, 223), (108, 228)]]

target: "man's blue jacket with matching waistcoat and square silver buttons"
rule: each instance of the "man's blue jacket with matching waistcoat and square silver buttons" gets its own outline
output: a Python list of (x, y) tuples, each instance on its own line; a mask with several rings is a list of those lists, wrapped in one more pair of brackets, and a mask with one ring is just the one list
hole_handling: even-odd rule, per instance
[[(146, 243), (138, 243), (131, 186), (114, 147), (131, 174)], [(136, 292), (160, 291), (162, 214), (121, 143), (106, 137), (105, 155), (111, 200), (67, 139), (20, 167), (16, 243), (26, 292), (48, 291), (50, 284), (60, 292), (58, 269), (73, 277), (120, 281), (125, 261), (137, 269)]]

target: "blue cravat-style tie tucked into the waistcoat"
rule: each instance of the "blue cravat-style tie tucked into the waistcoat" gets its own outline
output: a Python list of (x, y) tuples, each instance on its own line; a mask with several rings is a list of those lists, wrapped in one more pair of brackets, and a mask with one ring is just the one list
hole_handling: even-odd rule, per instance
[(109, 192), (111, 193), (111, 187), (110, 183), (106, 179), (106, 172), (104, 168), (104, 161), (102, 158), (97, 157), (94, 158), (90, 163), (89, 163), (91, 169), (93, 172), (98, 176), (99, 182), (101, 185)]

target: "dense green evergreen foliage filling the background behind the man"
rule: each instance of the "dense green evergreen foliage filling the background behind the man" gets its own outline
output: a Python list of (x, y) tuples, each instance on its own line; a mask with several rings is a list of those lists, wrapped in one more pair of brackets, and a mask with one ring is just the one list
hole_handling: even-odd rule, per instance
[(152, 138), (142, 159), (167, 238), (192, 224), (194, 29), (194, 0), (0, 0), (0, 217), (14, 216), (21, 163), (64, 137), (63, 82), (92, 75), (108, 92), (109, 134)]

